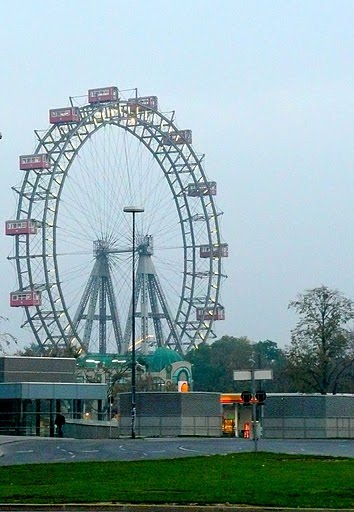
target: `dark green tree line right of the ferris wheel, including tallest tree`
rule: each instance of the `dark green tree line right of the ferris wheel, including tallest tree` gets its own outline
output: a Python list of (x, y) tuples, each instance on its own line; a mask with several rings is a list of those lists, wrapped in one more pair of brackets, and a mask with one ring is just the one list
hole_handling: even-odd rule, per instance
[(337, 290), (320, 286), (290, 302), (299, 320), (291, 344), (282, 350), (271, 340), (254, 343), (247, 337), (223, 336), (189, 354), (194, 391), (240, 392), (248, 382), (233, 381), (234, 370), (273, 370), (269, 393), (353, 393), (354, 302)]

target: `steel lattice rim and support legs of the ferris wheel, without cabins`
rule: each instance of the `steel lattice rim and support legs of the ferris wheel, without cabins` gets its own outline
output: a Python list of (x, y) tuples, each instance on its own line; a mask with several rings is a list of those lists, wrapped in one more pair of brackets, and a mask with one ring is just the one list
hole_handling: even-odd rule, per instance
[[(85, 327), (82, 339), (76, 333), (77, 322), (88, 315), (84, 313), (86, 306), (92, 312), (95, 297), (100, 295), (102, 315), (109, 319), (115, 318), (118, 352), (125, 353), (128, 350), (126, 340), (129, 329), (126, 329), (123, 336), (119, 319), (115, 317), (117, 305), (107, 257), (103, 255), (96, 259), (76, 315), (71, 317), (61, 286), (56, 250), (59, 206), (70, 167), (86, 141), (102, 127), (110, 124), (125, 130), (145, 146), (158, 163), (172, 194), (179, 218), (184, 261), (180, 299), (173, 316), (168, 312), (167, 302), (149, 255), (140, 255), (137, 284), (143, 297), (149, 295), (152, 307), (150, 318), (156, 329), (158, 343), (185, 353), (200, 342), (215, 337), (212, 330), (213, 315), (197, 320), (196, 308), (217, 310), (220, 305), (221, 280), (226, 277), (222, 273), (221, 258), (216, 257), (213, 251), (207, 260), (200, 259), (200, 243), (195, 235), (198, 226), (203, 231), (203, 244), (211, 248), (219, 247), (222, 239), (218, 219), (222, 212), (217, 209), (211, 193), (204, 193), (196, 198), (188, 197), (187, 194), (190, 183), (198, 186), (208, 183), (203, 169), (203, 156), (198, 156), (189, 143), (177, 144), (171, 139), (166, 144), (169, 134), (178, 132), (174, 123), (174, 112), (163, 113), (149, 108), (131, 112), (128, 101), (121, 99), (108, 104), (84, 105), (79, 110), (80, 122), (52, 125), (45, 132), (35, 132), (38, 138), (35, 153), (49, 155), (51, 167), (48, 170), (26, 171), (22, 185), (13, 188), (18, 193), (17, 219), (35, 218), (41, 225), (40, 235), (18, 236), (15, 241), (13, 259), (16, 263), (19, 289), (37, 289), (42, 292), (41, 306), (25, 308), (24, 325), (31, 327), (42, 349), (48, 346), (76, 346), (86, 350), (90, 322)], [(198, 201), (197, 214), (190, 207), (191, 201)], [(148, 271), (141, 270), (144, 265), (149, 266)], [(97, 276), (100, 276), (100, 286), (97, 285)], [(146, 303), (146, 300), (143, 301), (143, 305)], [(162, 313), (156, 309), (158, 303)], [(106, 304), (110, 310), (109, 315), (104, 311)], [(144, 306), (137, 313), (145, 325), (142, 331), (147, 335), (148, 317), (143, 309)], [(163, 339), (162, 334), (159, 338), (158, 334), (161, 314), (172, 318), (167, 339)], [(91, 314), (91, 320), (93, 317)], [(100, 329), (100, 349), (105, 351), (105, 322), (102, 318)]]

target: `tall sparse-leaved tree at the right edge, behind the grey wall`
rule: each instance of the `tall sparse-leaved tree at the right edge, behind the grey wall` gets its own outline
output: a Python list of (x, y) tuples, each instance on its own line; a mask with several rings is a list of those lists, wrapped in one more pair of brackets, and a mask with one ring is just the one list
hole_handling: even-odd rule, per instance
[(288, 369), (297, 391), (342, 391), (354, 356), (354, 302), (326, 286), (306, 290), (288, 306), (299, 315), (287, 349)]

